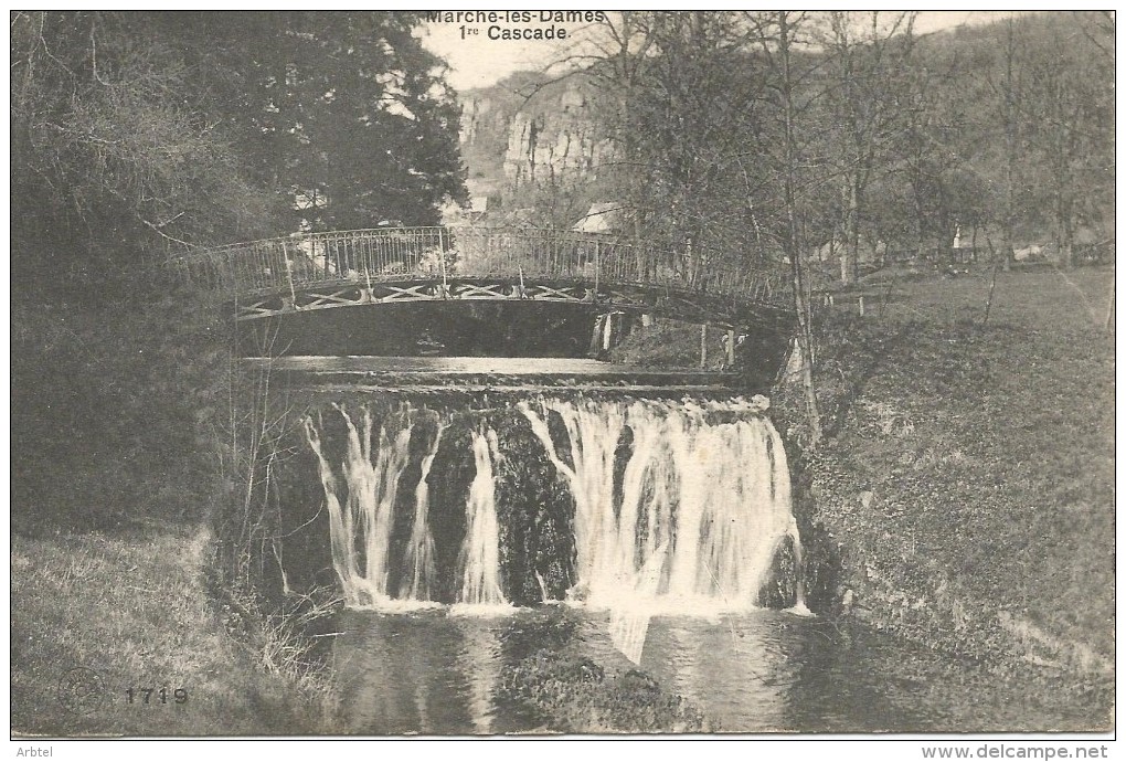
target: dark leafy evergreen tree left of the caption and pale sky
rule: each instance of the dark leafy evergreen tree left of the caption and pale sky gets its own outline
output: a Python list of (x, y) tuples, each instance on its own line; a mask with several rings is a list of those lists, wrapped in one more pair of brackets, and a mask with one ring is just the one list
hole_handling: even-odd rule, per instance
[[(293, 228), (436, 224), (464, 202), (459, 110), (418, 14), (196, 14), (240, 150)], [(175, 20), (173, 20), (175, 21)]]

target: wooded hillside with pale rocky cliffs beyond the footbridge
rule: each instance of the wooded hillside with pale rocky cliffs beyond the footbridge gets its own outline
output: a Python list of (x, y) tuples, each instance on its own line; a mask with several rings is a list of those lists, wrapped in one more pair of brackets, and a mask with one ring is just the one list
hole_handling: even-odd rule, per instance
[[(661, 52), (637, 64), (628, 98), (597, 69), (549, 83), (519, 72), (462, 94), (461, 149), (471, 196), (490, 198), (485, 219), (570, 227), (591, 203), (628, 198), (651, 231), (730, 238), (753, 215), (753, 246), (776, 237), (775, 86), (761, 54), (732, 34), (706, 33), (688, 56), (654, 33), (651, 51)], [(829, 39), (824, 29), (810, 34)], [(922, 35), (910, 50), (899, 50), (901, 37), (858, 38), (846, 51), (857, 71), (877, 54), (900, 59), (851, 83), (834, 73), (844, 53), (831, 39), (820, 55), (798, 51), (795, 65), (810, 72), (798, 94), (807, 104), (799, 149), (815, 167), (798, 200), (810, 249), (856, 234), (860, 249), (922, 251), (960, 233), (963, 247), (985, 250), (1002, 247), (1007, 221), (1015, 249), (1042, 246), (1044, 256), (1111, 240), (1112, 57), (1100, 34), (1099, 15), (1056, 12), (1017, 17), (1011, 29), (1000, 21)], [(727, 63), (694, 70), (708, 45)], [(868, 106), (844, 103), (844, 90)], [(850, 121), (866, 109), (868, 123)], [(636, 158), (623, 163), (626, 140)], [(868, 156), (864, 166), (849, 165), (855, 151)], [(850, 212), (842, 194), (856, 183)], [(747, 193), (753, 198), (741, 201)]]

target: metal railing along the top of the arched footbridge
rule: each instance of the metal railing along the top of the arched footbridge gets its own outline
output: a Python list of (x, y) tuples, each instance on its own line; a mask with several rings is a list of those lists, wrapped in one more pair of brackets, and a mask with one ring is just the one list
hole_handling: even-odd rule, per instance
[(733, 265), (712, 249), (671, 250), (568, 230), (378, 228), (233, 243), (178, 259), (190, 283), (235, 294), (330, 283), (497, 277), (629, 284), (785, 305), (780, 265)]

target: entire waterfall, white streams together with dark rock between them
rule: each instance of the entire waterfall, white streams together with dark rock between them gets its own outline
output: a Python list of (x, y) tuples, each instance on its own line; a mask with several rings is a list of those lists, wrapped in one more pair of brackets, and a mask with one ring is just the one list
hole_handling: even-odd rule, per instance
[[(546, 600), (549, 586), (560, 595), (570, 587), (573, 601), (618, 617), (615, 640), (634, 644), (629, 650), (640, 650), (651, 613), (754, 608), (786, 538), (801, 566), (785, 452), (767, 405), (761, 397), (539, 398), (457, 414), (402, 406), (378, 417), (333, 405), (343, 424), (336, 448), (320, 418), (305, 420), (305, 435), (346, 601), (480, 608), (506, 605), (517, 588), (524, 597), (516, 600), (527, 601), (528, 590)], [(551, 524), (546, 508), (511, 486), (516, 471), (506, 463), (527, 459), (543, 466), (524, 478), (546, 479), (533, 494), (573, 505), (573, 514), (552, 520), (573, 534), (573, 558), (570, 544), (539, 542)], [(441, 489), (431, 488), (432, 471), (443, 475)], [(436, 494), (441, 502), (431, 505)], [(544, 561), (552, 553), (554, 566)], [(545, 569), (555, 569), (551, 582)], [(801, 593), (796, 608), (804, 608)]]

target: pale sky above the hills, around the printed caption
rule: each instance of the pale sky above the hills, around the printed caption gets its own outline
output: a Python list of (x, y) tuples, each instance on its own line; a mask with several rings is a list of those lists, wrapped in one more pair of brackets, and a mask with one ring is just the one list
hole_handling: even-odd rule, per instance
[[(501, 11), (503, 12), (503, 11)], [(538, 14), (539, 11), (530, 11)], [(915, 33), (929, 34), (963, 24), (988, 24), (1015, 11), (919, 11)], [(462, 27), (466, 27), (463, 34)], [(428, 23), (425, 25), (426, 46), (449, 62), (447, 77), (455, 90), (489, 87), (513, 71), (539, 69), (560, 60), (565, 53), (557, 42), (548, 41), (501, 41), (489, 39), (491, 24)], [(578, 33), (582, 24), (540, 24), (538, 18), (531, 24), (502, 25), (520, 28), (547, 28), (562, 26), (570, 34)], [(470, 32), (475, 28), (476, 34)]]

